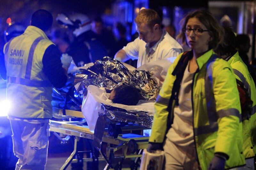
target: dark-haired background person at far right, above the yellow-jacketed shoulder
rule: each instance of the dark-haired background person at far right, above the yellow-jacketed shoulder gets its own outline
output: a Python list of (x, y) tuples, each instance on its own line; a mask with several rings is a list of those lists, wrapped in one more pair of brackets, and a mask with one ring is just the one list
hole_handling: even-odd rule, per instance
[(247, 53), (251, 48), (250, 38), (246, 34), (236, 35), (238, 54), (243, 58), (244, 62), (249, 63), (249, 57)]

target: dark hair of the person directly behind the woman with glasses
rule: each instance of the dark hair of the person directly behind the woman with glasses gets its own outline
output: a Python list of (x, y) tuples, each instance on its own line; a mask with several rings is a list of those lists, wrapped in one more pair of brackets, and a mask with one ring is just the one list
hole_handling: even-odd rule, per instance
[(224, 27), (224, 41), (215, 50), (219, 55), (233, 56), (236, 54), (236, 35), (230, 27)]

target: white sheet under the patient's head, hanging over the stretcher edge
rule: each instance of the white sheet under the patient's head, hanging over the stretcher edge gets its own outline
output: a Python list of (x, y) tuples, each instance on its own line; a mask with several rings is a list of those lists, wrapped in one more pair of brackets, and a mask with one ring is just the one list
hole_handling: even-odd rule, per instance
[(139, 105), (136, 106), (127, 106), (117, 103), (112, 103), (111, 100), (108, 99), (109, 93), (106, 92), (104, 88), (99, 88), (94, 85), (89, 85), (87, 87), (87, 95), (84, 96), (83, 104), (82, 104), (82, 113), (88, 123), (89, 129), (91, 132), (94, 132), (95, 125), (97, 119), (99, 117), (100, 104), (103, 103), (105, 105), (110, 105), (118, 108), (122, 108), (125, 110), (138, 110), (154, 113), (154, 101), (140, 100)]

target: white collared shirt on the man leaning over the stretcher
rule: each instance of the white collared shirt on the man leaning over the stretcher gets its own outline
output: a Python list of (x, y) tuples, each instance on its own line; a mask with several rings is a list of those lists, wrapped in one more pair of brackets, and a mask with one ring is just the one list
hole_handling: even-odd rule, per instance
[(159, 41), (153, 47), (149, 43), (140, 40), (139, 37), (129, 42), (123, 50), (132, 60), (138, 59), (137, 68), (145, 63), (165, 58), (177, 57), (182, 51), (180, 44), (165, 30)]

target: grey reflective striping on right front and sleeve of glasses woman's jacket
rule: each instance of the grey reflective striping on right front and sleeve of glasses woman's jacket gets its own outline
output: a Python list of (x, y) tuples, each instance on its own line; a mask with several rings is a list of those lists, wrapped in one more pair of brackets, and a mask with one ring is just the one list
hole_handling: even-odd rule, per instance
[(208, 62), (206, 63), (206, 74), (204, 79), (204, 89), (205, 89), (205, 98), (206, 98), (206, 107), (208, 113), (209, 125), (199, 126), (195, 128), (195, 135), (203, 135), (207, 133), (213, 133), (218, 131), (218, 118), (233, 115), (239, 118), (239, 121), (242, 121), (239, 111), (235, 108), (230, 108), (227, 110), (216, 111), (216, 104), (213, 95), (213, 80), (212, 80), (212, 69), (215, 60), (218, 58), (218, 55), (213, 54)]

